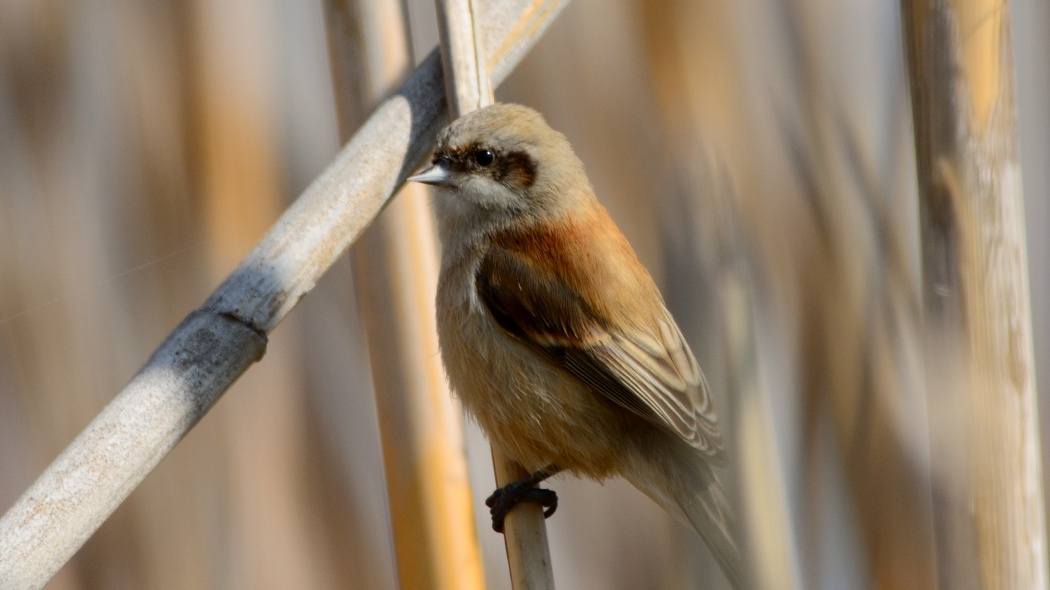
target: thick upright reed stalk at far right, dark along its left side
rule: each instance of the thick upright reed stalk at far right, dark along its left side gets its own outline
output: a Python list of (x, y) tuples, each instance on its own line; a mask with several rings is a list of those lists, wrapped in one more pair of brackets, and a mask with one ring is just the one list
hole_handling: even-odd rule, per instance
[(941, 588), (1046, 589), (1006, 0), (903, 0)]

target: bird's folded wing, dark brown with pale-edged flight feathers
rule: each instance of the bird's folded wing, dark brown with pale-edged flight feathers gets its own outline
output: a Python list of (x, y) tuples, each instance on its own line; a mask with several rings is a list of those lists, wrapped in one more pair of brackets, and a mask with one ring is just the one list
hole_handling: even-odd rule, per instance
[[(496, 322), (595, 392), (721, 463), (721, 437), (707, 382), (663, 302), (650, 307), (659, 316), (646, 318), (651, 330), (617, 326), (552, 271), (556, 265), (538, 259), (550, 255), (499, 246), (488, 250), (475, 285)], [(574, 276), (581, 274), (609, 276)]]

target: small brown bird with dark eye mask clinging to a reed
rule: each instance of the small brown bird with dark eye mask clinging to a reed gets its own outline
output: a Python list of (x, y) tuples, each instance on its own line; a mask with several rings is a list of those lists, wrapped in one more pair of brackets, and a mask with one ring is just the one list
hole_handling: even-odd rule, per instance
[(504, 456), (532, 475), (486, 504), (494, 528), (536, 485), (568, 471), (621, 476), (707, 543), (740, 588), (711, 394), (649, 273), (594, 196), (565, 135), (496, 104), (438, 135), (442, 244), (437, 317), (455, 394)]

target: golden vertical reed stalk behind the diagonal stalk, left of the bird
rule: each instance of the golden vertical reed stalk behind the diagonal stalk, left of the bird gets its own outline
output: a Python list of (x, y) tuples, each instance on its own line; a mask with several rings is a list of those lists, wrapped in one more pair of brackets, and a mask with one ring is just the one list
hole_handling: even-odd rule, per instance
[[(411, 71), (400, 0), (327, 0), (343, 142)], [(352, 249), (379, 415), (403, 590), (480, 590), (459, 404), (438, 355), (434, 224), (419, 185), (401, 189)]]

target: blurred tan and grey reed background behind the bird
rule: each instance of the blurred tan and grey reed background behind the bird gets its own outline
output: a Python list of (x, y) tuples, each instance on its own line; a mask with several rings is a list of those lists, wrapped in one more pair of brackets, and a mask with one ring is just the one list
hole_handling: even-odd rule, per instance
[[(407, 8), (419, 61), (434, 5)], [(1050, 5), (1011, 10), (1048, 376)], [(763, 485), (786, 499), (777, 587), (931, 588), (898, 2), (574, 0), (497, 97), (569, 136), (724, 417), (748, 412), (727, 394), (726, 277), (749, 288)], [(334, 155), (333, 105), (319, 0), (0, 0), (0, 510)], [(396, 587), (352, 275), (348, 256), (48, 588)], [(466, 435), (486, 584), (509, 588)], [(724, 587), (625, 482), (552, 487), (561, 588)]]

